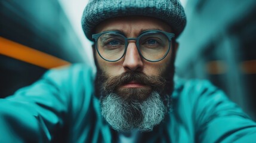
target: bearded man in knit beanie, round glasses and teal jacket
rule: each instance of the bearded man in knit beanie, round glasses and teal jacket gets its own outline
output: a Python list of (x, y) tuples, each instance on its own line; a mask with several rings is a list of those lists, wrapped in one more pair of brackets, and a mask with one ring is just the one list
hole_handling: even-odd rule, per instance
[[(169, 1), (92, 0), (90, 68), (52, 70), (0, 100), (1, 142), (255, 142), (256, 124), (207, 81), (174, 81), (186, 16)], [(95, 88), (95, 94), (93, 89)]]

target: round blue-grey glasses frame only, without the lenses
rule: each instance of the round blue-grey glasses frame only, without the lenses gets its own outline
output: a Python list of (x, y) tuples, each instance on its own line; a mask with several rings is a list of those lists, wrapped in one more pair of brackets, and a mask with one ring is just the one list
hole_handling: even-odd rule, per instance
[[(146, 34), (149, 33), (149, 32), (161, 32), (161, 33), (163, 33), (163, 34), (168, 38), (168, 41), (169, 41), (168, 50), (166, 51), (165, 55), (164, 55), (162, 58), (158, 59), (158, 60), (148, 60), (147, 58), (145, 58), (145, 57), (141, 54), (141, 51), (140, 51), (140, 43), (139, 43), (139, 42), (140, 42), (140, 38), (143, 37), (144, 35), (146, 35)], [(98, 44), (97, 44), (98, 38), (100, 38), (100, 36), (103, 35), (104, 33), (116, 33), (116, 34), (122, 36), (122, 37), (125, 39), (125, 51), (124, 51), (124, 54), (123, 54), (120, 58), (118, 58), (118, 60), (107, 60), (106, 58), (102, 57), (101, 54), (100, 54), (100, 52), (98, 51)], [(174, 33), (164, 32), (164, 31), (162, 31), (162, 30), (146, 30), (146, 31), (144, 31), (143, 33), (141, 33), (137, 38), (127, 38), (127, 37), (124, 36), (123, 33), (119, 32), (119, 31), (106, 31), (106, 32), (101, 32), (101, 33), (97, 33), (97, 34), (92, 35), (92, 39), (94, 39), (94, 41), (95, 41), (95, 48), (96, 48), (96, 50), (97, 50), (97, 52), (98, 52), (98, 55), (100, 55), (100, 57), (103, 58), (103, 60), (106, 60), (106, 61), (109, 61), (109, 62), (116, 62), (116, 61), (121, 60), (121, 58), (124, 57), (124, 55), (125, 55), (126, 52), (127, 52), (127, 47), (128, 47), (128, 44), (129, 44), (128, 41), (135, 41), (135, 42), (136, 42), (135, 44), (136, 44), (136, 48), (137, 48), (137, 50), (138, 50), (138, 53), (139, 53), (140, 56), (143, 57), (145, 60), (150, 61), (150, 62), (158, 62), (158, 61), (161, 61), (161, 60), (163, 60), (163, 59), (166, 57), (166, 55), (169, 53), (169, 51), (170, 51), (170, 49), (171, 49), (171, 40), (172, 40), (172, 38), (174, 38), (174, 37), (175, 37)]]

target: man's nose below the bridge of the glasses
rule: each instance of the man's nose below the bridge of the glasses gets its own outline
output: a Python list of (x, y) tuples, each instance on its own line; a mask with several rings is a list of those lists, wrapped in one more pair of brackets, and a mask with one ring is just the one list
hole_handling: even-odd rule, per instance
[(124, 57), (124, 63), (122, 65), (125, 70), (142, 70), (143, 61), (138, 53), (135, 42), (129, 42), (127, 52)]

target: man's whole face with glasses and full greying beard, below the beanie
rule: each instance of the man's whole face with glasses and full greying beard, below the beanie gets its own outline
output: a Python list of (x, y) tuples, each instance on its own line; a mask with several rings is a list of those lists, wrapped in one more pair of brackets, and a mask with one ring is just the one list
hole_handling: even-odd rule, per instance
[(175, 42), (158, 18), (109, 18), (95, 28), (101, 113), (113, 129), (152, 130), (165, 116), (173, 88)]

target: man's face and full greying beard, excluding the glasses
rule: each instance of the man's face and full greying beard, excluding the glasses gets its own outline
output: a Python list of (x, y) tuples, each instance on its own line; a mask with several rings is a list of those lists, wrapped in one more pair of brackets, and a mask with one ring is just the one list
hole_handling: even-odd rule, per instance
[[(172, 32), (168, 24), (156, 18), (121, 17), (100, 23), (95, 33), (118, 31), (127, 38), (137, 38), (146, 30)], [(101, 113), (106, 121), (122, 132), (152, 130), (164, 119), (168, 109), (171, 93), (166, 96), (163, 91), (173, 88), (173, 84), (166, 84), (172, 83), (174, 73), (172, 51), (163, 60), (150, 62), (141, 57), (132, 40), (126, 54), (118, 61), (109, 62), (98, 52), (94, 54), (98, 69), (96, 86), (102, 91)]]

